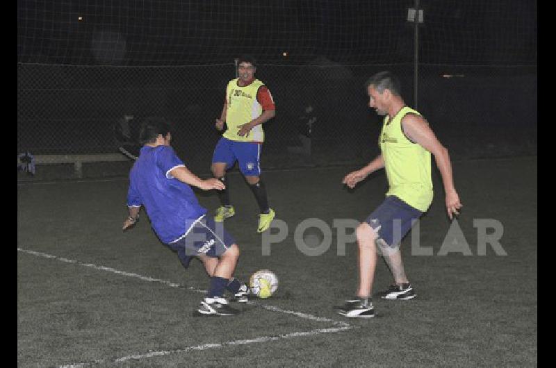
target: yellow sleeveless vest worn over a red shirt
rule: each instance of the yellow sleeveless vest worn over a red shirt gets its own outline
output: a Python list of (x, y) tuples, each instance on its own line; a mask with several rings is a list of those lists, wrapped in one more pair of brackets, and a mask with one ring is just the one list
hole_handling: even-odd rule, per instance
[(263, 124), (252, 128), (247, 137), (240, 137), (238, 131), (240, 125), (252, 121), (263, 113), (263, 107), (259, 101), (256, 101), (256, 92), (264, 83), (255, 79), (250, 85), (240, 87), (238, 86), (238, 79), (229, 81), (226, 88), (226, 102), (228, 105), (226, 124), (228, 128), (222, 136), (240, 142), (263, 142), (265, 138)]

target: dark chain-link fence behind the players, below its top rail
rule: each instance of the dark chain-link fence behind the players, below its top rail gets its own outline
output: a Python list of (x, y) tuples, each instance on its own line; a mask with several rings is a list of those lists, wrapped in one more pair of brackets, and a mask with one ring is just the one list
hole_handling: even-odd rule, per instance
[[(277, 115), (265, 123), (263, 167), (359, 164), (378, 153), (380, 119), (364, 84), (381, 70), (402, 80), (414, 106), (413, 65), (285, 67), (259, 65)], [(115, 122), (124, 115), (164, 116), (173, 145), (208, 172), (234, 64), (210, 67), (18, 65), (17, 149), (39, 154), (117, 153)], [(418, 110), (452, 158), (537, 153), (536, 67), (420, 65)], [(310, 149), (300, 119), (312, 106)], [(122, 172), (125, 174), (125, 172)]]

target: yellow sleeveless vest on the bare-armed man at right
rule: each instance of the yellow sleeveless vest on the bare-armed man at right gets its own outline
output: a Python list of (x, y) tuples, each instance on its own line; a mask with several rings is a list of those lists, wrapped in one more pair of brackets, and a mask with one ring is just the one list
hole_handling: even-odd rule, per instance
[(397, 196), (409, 206), (425, 212), (433, 196), (430, 152), (411, 142), (402, 131), (402, 118), (408, 113), (421, 116), (416, 110), (404, 106), (392, 119), (389, 115), (384, 117), (379, 135), (390, 185), (386, 196)]

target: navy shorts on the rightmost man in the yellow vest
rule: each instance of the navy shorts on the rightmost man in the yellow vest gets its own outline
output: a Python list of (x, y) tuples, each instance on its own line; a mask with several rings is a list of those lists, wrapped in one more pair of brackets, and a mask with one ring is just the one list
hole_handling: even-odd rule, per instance
[(423, 212), (409, 206), (397, 196), (387, 196), (365, 220), (389, 246), (398, 246)]

